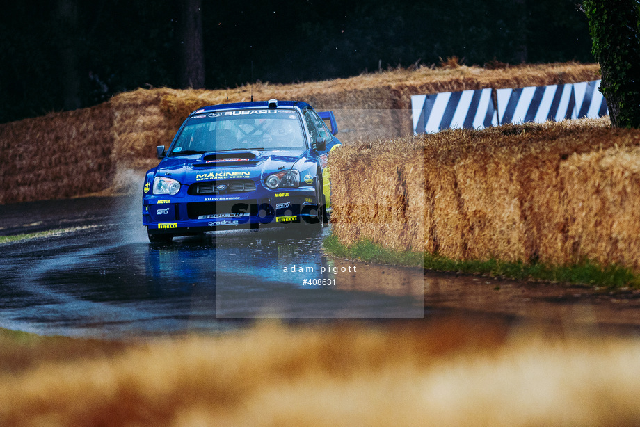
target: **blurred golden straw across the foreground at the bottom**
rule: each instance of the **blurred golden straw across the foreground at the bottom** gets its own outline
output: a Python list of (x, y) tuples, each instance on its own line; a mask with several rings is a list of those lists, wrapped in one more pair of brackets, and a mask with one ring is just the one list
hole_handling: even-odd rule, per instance
[(31, 363), (13, 369), (0, 352), (0, 425), (640, 423), (637, 339), (579, 340), (447, 319), (266, 324), (223, 337), (114, 345), (109, 357), (79, 357), (75, 343), (74, 353), (42, 360), (33, 355), (42, 346), (31, 344), (22, 350)]

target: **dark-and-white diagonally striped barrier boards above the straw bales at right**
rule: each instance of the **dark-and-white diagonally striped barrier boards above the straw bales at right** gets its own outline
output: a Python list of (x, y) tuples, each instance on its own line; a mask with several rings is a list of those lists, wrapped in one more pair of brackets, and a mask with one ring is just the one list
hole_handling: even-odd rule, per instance
[[(411, 97), (414, 134), (507, 123), (559, 122), (607, 115), (600, 80), (520, 89), (465, 90)], [(497, 103), (497, 108), (494, 102)]]

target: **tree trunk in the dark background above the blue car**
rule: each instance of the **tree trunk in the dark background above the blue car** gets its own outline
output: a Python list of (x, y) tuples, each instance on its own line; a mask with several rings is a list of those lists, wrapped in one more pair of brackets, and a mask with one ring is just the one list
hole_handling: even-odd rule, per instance
[(205, 54), (202, 44), (202, 1), (182, 0), (179, 22), (179, 85), (181, 88), (205, 87)]

